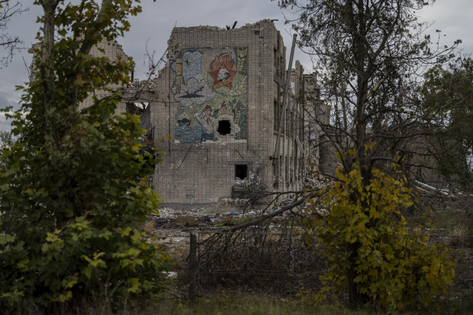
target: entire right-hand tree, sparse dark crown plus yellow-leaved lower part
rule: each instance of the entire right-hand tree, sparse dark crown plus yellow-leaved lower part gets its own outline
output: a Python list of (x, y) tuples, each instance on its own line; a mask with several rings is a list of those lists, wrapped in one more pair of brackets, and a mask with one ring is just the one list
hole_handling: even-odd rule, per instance
[[(422, 167), (432, 167), (428, 157), (436, 151), (426, 139), (444, 126), (436, 111), (415, 101), (414, 87), (427, 66), (448, 62), (461, 42), (436, 45), (425, 35), (419, 13), (434, 2), (278, 1), (292, 11), (286, 23), (299, 46), (317, 61), (317, 93), (304, 104), (320, 130), (311, 143), (320, 146), (324, 166), (335, 164), (331, 152), (341, 165), (338, 175), (319, 170), (337, 182), (314, 206), (314, 213), (327, 213), (307, 222), (307, 232), (321, 233), (331, 270), (325, 287), (346, 285), (352, 308), (367, 300), (401, 306), (416, 296), (427, 303), (452, 283), (447, 252), (428, 246), (400, 216), (415, 202), (404, 175), (423, 181)], [(392, 163), (403, 174), (388, 175)]]

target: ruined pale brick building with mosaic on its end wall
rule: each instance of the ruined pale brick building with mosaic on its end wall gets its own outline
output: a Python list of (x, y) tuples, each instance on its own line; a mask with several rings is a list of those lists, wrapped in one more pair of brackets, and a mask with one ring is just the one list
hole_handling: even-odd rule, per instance
[(298, 62), (275, 166), (272, 159), (285, 56), (270, 20), (233, 30), (173, 29), (169, 62), (148, 88), (157, 97), (149, 105), (155, 146), (164, 151), (154, 183), (165, 204), (194, 208), (236, 197), (268, 202), (268, 192), (303, 188), (308, 152)]

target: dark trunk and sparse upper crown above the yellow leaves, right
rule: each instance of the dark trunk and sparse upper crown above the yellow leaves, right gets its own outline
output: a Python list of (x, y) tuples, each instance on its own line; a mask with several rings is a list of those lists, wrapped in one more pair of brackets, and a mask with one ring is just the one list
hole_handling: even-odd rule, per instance
[[(351, 178), (349, 174), (357, 172), (361, 180), (359, 188), (350, 189), (349, 194), (332, 197), (338, 202), (342, 202), (339, 197), (349, 198), (366, 215), (372, 208), (383, 211), (376, 200), (362, 198), (379, 181), (378, 168), (400, 180), (391, 165), (400, 165), (404, 172), (417, 166), (412, 156), (423, 152), (413, 143), (431, 133), (424, 124), (430, 116), (411, 101), (412, 88), (425, 67), (448, 61), (459, 42), (431, 49), (430, 37), (422, 34), (425, 24), (417, 21), (414, 12), (432, 3), (279, 1), (281, 7), (290, 7), (297, 14), (294, 21), (286, 23), (294, 23), (294, 30), (300, 34), (299, 45), (318, 58), (314, 67), (319, 74), (320, 96), (332, 106), (333, 117), (331, 124), (314, 119), (338, 153), (342, 177), (335, 179), (343, 183)], [(329, 207), (329, 216), (334, 215), (333, 210)], [(354, 215), (347, 214), (345, 220), (354, 220)], [(378, 223), (377, 216), (370, 217), (365, 226), (371, 230)], [(346, 247), (338, 250), (348, 257), (345, 276), (350, 305), (356, 307), (365, 293), (359, 285), (363, 244), (357, 238), (343, 242)], [(382, 242), (382, 238), (373, 242)]]

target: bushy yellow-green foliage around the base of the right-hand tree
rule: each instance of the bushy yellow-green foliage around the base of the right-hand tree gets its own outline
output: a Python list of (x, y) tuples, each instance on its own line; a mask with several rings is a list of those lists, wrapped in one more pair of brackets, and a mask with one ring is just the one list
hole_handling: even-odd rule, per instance
[(305, 221), (307, 241), (318, 235), (329, 267), (314, 298), (333, 298), (349, 281), (358, 304), (402, 309), (418, 298), (427, 305), (432, 296), (446, 293), (455, 263), (443, 244), (429, 246), (428, 237), (408, 229), (401, 209), (416, 201), (405, 180), (373, 169), (366, 185), (356, 165), (346, 175), (338, 170), (337, 177)]

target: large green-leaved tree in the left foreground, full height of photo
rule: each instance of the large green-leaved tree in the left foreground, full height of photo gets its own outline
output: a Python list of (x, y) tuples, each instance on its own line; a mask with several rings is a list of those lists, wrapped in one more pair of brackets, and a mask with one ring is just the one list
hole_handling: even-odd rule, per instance
[[(146, 187), (158, 159), (140, 152), (139, 119), (114, 115), (133, 60), (90, 55), (128, 31), (135, 2), (34, 2), (44, 10), (35, 80), (9, 116), (18, 139), (0, 175), (6, 312), (67, 312), (87, 300), (117, 307), (148, 298), (169, 269), (169, 255), (136, 226), (158, 208)], [(88, 94), (94, 105), (78, 111)]]

